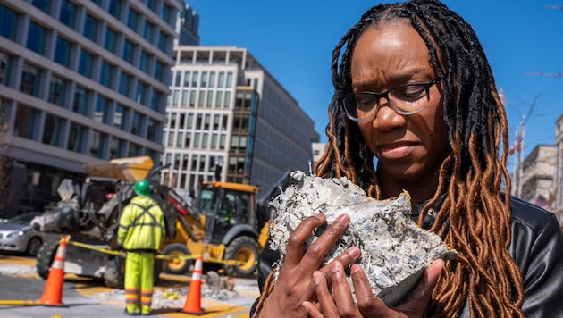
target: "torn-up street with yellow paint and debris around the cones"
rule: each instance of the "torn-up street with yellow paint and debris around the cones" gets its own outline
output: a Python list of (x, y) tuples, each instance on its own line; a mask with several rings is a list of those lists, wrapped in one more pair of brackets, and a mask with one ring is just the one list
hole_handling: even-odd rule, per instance
[[(248, 317), (256, 297), (256, 279), (234, 279), (234, 287), (212, 289), (202, 280), (201, 307), (205, 314), (185, 314), (181, 310), (189, 293), (187, 275), (161, 274), (153, 296), (153, 317)], [(0, 254), (0, 317), (129, 317), (123, 313), (124, 292), (110, 289), (99, 280), (64, 276), (62, 306), (35, 305), (46, 289), (46, 281), (35, 272), (35, 259)], [(22, 303), (33, 301), (33, 305)]]

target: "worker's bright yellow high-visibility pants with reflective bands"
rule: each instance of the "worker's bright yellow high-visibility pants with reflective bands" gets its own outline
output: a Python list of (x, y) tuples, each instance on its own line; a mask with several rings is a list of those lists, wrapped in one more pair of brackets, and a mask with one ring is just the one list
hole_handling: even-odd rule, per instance
[(155, 283), (155, 254), (127, 252), (125, 259), (125, 303), (129, 313), (150, 314)]

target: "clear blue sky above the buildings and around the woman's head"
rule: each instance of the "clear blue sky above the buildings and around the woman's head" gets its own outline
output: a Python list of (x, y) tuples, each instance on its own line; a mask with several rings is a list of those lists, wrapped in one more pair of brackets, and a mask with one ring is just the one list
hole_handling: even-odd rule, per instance
[[(333, 47), (377, 1), (187, 0), (200, 14), (202, 46), (248, 48), (315, 121), (325, 142), (332, 97)], [(546, 2), (547, 1), (547, 2)], [(526, 121), (525, 155), (538, 144), (555, 143), (555, 121), (563, 114), (563, 0), (444, 1), (475, 29), (507, 96), (510, 141)], [(512, 158), (509, 159), (509, 161)]]

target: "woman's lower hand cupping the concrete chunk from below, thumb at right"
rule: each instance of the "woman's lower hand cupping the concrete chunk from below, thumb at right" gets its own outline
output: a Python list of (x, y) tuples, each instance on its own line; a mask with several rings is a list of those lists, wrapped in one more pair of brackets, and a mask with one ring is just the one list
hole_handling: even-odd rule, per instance
[(440, 276), (444, 261), (439, 259), (431, 264), (424, 273), (416, 287), (408, 297), (397, 307), (388, 307), (378, 297), (374, 297), (367, 280), (366, 273), (357, 264), (350, 269), (352, 282), (357, 298), (354, 303), (344, 267), (340, 262), (332, 262), (331, 275), (332, 294), (329, 286), (331, 283), (325, 279), (323, 272), (313, 273), (315, 293), (318, 303), (303, 302), (310, 317), (423, 317), (432, 296), (436, 281)]

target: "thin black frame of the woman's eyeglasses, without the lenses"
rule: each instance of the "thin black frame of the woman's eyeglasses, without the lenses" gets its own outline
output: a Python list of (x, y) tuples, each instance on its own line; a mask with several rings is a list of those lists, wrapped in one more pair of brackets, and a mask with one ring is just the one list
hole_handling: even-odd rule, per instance
[[(396, 89), (400, 89), (400, 88), (408, 88), (408, 87), (412, 87), (412, 86), (416, 86), (416, 87), (422, 87), (424, 88), (424, 90), (426, 91), (426, 98), (428, 100), (430, 100), (430, 88), (433, 87), (434, 84), (437, 84), (439, 81), (441, 81), (441, 77), (437, 77), (431, 81), (427, 81), (427, 82), (422, 82), (422, 83), (409, 83), (409, 84), (405, 84), (405, 85), (399, 85), (397, 87), (394, 88), (390, 88), (382, 93), (377, 93), (377, 92), (370, 92), (370, 91), (363, 91), (363, 92), (356, 92), (356, 93), (350, 93), (347, 94), (345, 96), (342, 96), (340, 98), (340, 104), (342, 105), (342, 107), (344, 108), (344, 112), (346, 113), (346, 116), (352, 120), (352, 121), (371, 121), (375, 118), (375, 114), (379, 111), (379, 107), (380, 107), (380, 101), (382, 98), (385, 98), (385, 100), (387, 100), (387, 104), (391, 107), (391, 109), (397, 113), (403, 114), (403, 115), (411, 115), (414, 113), (420, 113), (422, 112), (426, 107), (428, 107), (428, 105), (424, 105), (424, 107), (421, 107), (419, 109), (417, 109), (416, 111), (410, 111), (410, 112), (406, 112), (403, 111), (401, 109), (399, 109), (396, 105), (393, 105), (389, 102), (389, 93), (393, 90)], [(358, 94), (363, 94), (363, 95), (372, 95), (374, 96), (376, 99), (375, 100), (375, 111), (374, 114), (369, 116), (369, 117), (363, 117), (363, 118), (355, 118), (352, 113), (349, 112), (349, 109), (346, 105), (346, 99), (352, 97), (353, 100), (356, 100), (356, 96)], [(351, 105), (353, 108), (357, 108), (356, 103), (352, 103), (353, 105)]]

